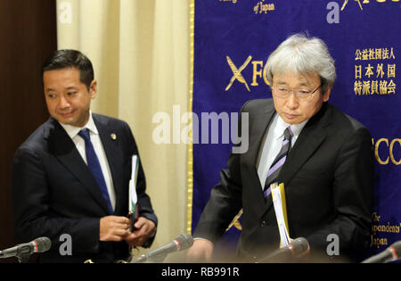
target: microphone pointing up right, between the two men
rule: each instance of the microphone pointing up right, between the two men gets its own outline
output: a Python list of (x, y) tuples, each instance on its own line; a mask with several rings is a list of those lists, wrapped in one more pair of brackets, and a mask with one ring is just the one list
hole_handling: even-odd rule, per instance
[(156, 261), (161, 262), (166, 258), (168, 253), (176, 252), (176, 251), (184, 251), (190, 248), (193, 244), (193, 238), (189, 234), (184, 234), (176, 237), (173, 242), (169, 244), (165, 244), (160, 248), (153, 250), (151, 252), (145, 253), (140, 256), (138, 259), (130, 261), (131, 263), (143, 263), (145, 261)]

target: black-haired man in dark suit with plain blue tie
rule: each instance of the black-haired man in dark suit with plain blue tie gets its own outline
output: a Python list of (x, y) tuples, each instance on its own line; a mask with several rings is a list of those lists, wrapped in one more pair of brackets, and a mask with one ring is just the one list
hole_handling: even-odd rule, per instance
[(92, 63), (78, 51), (57, 51), (44, 63), (43, 80), (51, 117), (13, 161), (20, 242), (49, 237), (51, 250), (38, 257), (43, 262), (112, 262), (127, 259), (129, 246), (149, 247), (158, 220), (140, 162), (135, 231), (127, 219), (135, 139), (126, 122), (90, 111), (97, 93)]

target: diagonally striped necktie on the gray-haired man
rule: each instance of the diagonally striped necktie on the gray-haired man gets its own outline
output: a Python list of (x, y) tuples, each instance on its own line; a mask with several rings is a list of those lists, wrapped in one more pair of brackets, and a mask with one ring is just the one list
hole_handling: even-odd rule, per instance
[(275, 157), (270, 169), (267, 172), (267, 178), (265, 182), (265, 188), (263, 189), (263, 194), (267, 197), (270, 193), (270, 185), (277, 181), (278, 175), (280, 174), (280, 170), (282, 169), (282, 165), (284, 165), (285, 160), (287, 159), (287, 155), (290, 152), (291, 148), (291, 138), (293, 134), (291, 132), (291, 128), (287, 127), (284, 130), (284, 139), (282, 140), (282, 149)]

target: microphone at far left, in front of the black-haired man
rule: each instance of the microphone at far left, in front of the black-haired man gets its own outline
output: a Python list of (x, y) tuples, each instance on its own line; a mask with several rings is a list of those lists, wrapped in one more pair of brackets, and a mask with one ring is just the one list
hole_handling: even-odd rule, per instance
[(29, 243), (18, 244), (12, 248), (0, 251), (0, 259), (11, 257), (29, 257), (34, 252), (46, 252), (52, 246), (47, 237), (39, 237)]

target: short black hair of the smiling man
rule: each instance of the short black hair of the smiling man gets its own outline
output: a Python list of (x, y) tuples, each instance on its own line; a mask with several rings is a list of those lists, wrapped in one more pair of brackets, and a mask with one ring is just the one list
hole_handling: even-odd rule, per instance
[(85, 54), (77, 50), (58, 50), (49, 56), (42, 66), (42, 76), (47, 70), (61, 70), (66, 68), (77, 68), (79, 80), (86, 85), (87, 90), (94, 80), (94, 67)]

